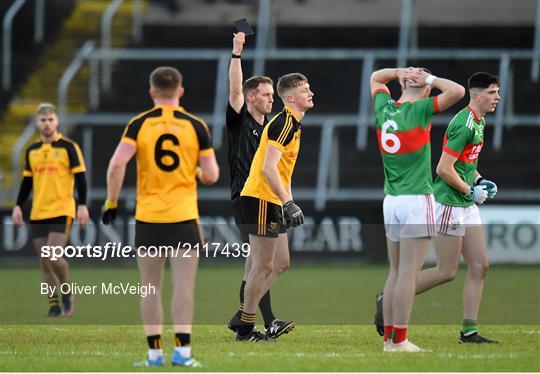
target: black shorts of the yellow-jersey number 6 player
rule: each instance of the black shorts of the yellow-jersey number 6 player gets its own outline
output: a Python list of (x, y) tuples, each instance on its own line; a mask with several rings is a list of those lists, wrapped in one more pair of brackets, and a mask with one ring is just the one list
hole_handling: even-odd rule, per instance
[[(189, 244), (189, 246), (184, 246)], [(189, 248), (203, 244), (199, 222), (196, 219), (174, 223), (148, 223), (136, 221), (135, 247), (172, 246), (173, 248)]]

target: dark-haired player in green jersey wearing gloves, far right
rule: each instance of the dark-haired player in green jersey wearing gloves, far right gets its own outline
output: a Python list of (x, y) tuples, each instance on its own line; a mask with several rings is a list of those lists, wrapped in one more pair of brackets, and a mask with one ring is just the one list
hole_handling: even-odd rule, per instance
[[(473, 74), (468, 80), (470, 101), (457, 113), (446, 129), (443, 152), (434, 183), (435, 214), (438, 226), (434, 241), (437, 265), (418, 276), (416, 294), (456, 278), (461, 256), (467, 264), (463, 287), (463, 326), (460, 343), (496, 343), (478, 334), (477, 318), (484, 279), (489, 267), (484, 230), (477, 205), (497, 194), (497, 185), (484, 179), (477, 170), (478, 156), (484, 145), (485, 115), (495, 111), (499, 102), (497, 77), (489, 73)], [(385, 293), (384, 299), (387, 295)], [(375, 324), (384, 333), (386, 316), (377, 298)]]

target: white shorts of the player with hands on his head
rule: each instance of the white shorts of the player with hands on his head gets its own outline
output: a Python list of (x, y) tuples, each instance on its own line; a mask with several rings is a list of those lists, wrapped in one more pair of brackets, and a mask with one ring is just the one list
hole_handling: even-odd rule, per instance
[(435, 237), (434, 203), (433, 195), (386, 195), (383, 214), (388, 240)]

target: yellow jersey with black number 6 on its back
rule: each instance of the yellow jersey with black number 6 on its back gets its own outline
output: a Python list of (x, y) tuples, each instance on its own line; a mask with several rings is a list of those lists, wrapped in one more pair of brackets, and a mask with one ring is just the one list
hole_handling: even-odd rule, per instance
[(122, 142), (137, 147), (135, 218), (173, 223), (199, 218), (196, 167), (213, 154), (208, 125), (182, 107), (157, 105), (134, 117)]

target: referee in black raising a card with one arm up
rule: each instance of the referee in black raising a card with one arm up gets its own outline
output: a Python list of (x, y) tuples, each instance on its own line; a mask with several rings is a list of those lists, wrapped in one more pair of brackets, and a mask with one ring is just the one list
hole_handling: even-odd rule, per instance
[[(233, 39), (231, 64), (229, 66), (229, 103), (227, 105), (226, 124), (228, 130), (228, 163), (231, 175), (231, 200), (234, 221), (240, 230), (242, 241), (249, 243), (245, 222), (242, 222), (240, 213), (240, 192), (249, 175), (251, 162), (257, 148), (264, 126), (268, 122), (266, 117), (272, 111), (274, 103), (273, 81), (265, 76), (253, 76), (242, 86), (242, 65), (240, 55), (244, 48), (246, 35), (239, 32)], [(289, 266), (289, 258), (276, 256), (273, 271), (282, 273)], [(229, 320), (229, 329), (236, 332), (241, 325), (240, 317), (244, 306), (244, 287), (251, 269), (251, 258), (246, 259), (244, 277), (240, 286), (240, 309)], [(277, 274), (276, 274), (277, 275)], [(277, 338), (289, 332), (294, 323), (280, 321), (274, 316), (270, 302), (270, 290), (264, 294), (259, 302), (266, 338)], [(262, 337), (262, 336), (261, 336)]]

